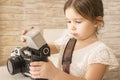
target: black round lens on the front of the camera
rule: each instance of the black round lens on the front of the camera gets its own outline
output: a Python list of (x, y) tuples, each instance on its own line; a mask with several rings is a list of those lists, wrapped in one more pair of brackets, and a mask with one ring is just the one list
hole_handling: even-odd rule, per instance
[(19, 57), (11, 57), (8, 59), (7, 61), (7, 69), (9, 71), (10, 74), (14, 75), (20, 72), (24, 72), (24, 60), (22, 60), (22, 58)]

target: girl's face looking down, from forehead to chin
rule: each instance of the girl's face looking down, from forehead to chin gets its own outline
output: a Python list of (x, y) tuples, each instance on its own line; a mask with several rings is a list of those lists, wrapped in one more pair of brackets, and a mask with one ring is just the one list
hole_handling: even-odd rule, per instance
[(85, 40), (96, 36), (97, 25), (95, 22), (83, 18), (73, 8), (65, 11), (68, 31), (76, 39)]

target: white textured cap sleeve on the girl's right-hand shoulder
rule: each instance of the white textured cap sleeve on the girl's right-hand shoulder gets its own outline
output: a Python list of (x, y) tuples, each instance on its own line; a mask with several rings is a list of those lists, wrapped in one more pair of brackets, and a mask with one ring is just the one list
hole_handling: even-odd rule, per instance
[(109, 65), (109, 69), (119, 66), (114, 51), (102, 41), (96, 42), (92, 49), (92, 54), (88, 57), (88, 63), (101, 63)]

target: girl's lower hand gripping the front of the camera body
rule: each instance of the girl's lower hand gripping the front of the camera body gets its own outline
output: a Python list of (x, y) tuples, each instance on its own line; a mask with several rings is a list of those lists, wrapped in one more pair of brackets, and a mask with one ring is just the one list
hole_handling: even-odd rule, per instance
[(48, 80), (54, 79), (58, 73), (58, 69), (53, 65), (52, 62), (31, 62), (30, 73), (32, 78), (45, 78)]

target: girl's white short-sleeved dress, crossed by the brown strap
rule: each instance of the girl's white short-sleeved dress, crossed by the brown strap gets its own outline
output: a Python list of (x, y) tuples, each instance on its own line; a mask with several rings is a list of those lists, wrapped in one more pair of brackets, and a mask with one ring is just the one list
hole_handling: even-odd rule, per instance
[[(56, 47), (60, 49), (60, 68), (62, 53), (69, 39), (70, 36), (67, 35), (54, 42)], [(108, 70), (115, 69), (119, 66), (113, 51), (103, 42), (96, 41), (83, 49), (79, 49), (73, 52), (72, 63), (70, 64), (70, 74), (77, 77), (84, 77), (88, 65), (94, 63), (108, 65)]]

